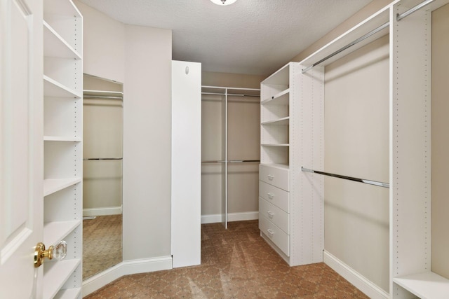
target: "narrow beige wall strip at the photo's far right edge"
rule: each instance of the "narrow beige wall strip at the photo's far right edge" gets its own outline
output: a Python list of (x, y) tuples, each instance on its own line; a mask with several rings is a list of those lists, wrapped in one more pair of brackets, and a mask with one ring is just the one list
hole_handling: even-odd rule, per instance
[(432, 271), (449, 278), (449, 4), (432, 14)]

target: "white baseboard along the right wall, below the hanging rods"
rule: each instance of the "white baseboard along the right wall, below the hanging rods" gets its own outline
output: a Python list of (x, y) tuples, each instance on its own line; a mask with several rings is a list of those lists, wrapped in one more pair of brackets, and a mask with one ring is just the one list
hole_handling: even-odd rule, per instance
[(323, 251), (323, 260), (326, 265), (331, 267), (335, 272), (340, 274), (344, 279), (347, 279), (351, 284), (353, 284), (360, 291), (365, 293), (369, 298), (372, 299), (387, 299), (389, 298), (389, 293), (384, 291), (379, 286), (373, 284), (373, 282), (363, 277), (360, 273), (356, 272), (354, 269), (343, 263), (341, 260), (328, 253), (328, 251)]

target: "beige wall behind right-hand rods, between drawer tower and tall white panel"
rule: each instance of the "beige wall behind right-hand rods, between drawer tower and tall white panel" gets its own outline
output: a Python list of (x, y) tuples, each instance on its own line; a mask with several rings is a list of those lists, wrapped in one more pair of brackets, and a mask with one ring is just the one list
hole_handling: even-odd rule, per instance
[[(326, 67), (326, 172), (389, 182), (389, 36)], [(325, 178), (325, 249), (389, 291), (389, 189)]]

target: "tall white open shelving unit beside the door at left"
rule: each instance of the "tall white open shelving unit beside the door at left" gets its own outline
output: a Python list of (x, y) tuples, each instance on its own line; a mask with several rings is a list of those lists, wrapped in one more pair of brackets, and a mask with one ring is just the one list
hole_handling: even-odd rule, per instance
[(43, 298), (81, 298), (83, 19), (70, 0), (43, 1), (43, 243), (67, 256), (43, 264)]

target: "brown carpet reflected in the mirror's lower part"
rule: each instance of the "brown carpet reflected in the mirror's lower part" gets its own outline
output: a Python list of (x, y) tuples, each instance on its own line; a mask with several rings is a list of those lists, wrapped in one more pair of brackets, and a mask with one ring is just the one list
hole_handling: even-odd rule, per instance
[(121, 236), (121, 215), (83, 220), (83, 279), (121, 262)]

